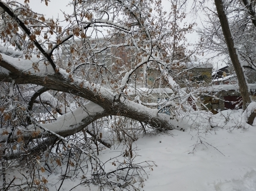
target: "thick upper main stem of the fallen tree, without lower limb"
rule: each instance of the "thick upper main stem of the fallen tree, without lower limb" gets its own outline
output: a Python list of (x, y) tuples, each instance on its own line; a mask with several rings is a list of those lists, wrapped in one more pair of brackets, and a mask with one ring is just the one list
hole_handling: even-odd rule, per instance
[[(114, 94), (101, 85), (89, 83), (88, 81), (83, 82), (81, 79), (76, 77), (72, 77), (71, 80), (69, 78), (69, 74), (63, 70), (60, 70), (59, 74), (54, 71), (48, 71), (48, 75), (46, 77), (42, 75), (42, 73), (45, 74), (45, 71), (42, 73), (33, 72), (28, 75), (24, 71), (24, 66), (20, 65), (19, 62), (19, 59), (2, 55), (0, 66), (11, 71), (11, 74), (8, 78), (6, 75), (4, 78), (0, 75), (0, 79), (6, 82), (12, 82), (12, 80), (15, 80), (15, 83), (17, 84), (41, 85), (51, 90), (78, 95), (104, 108), (106, 112), (103, 114), (104, 116), (121, 115), (147, 123), (155, 128), (174, 128), (170, 121), (170, 116), (159, 115), (156, 112), (157, 110), (155, 111), (154, 109), (150, 109), (124, 98), (116, 99), (119, 97), (118, 94)], [(23, 62), (30, 63), (29, 60), (23, 60)], [(28, 63), (23, 64), (27, 65)], [(39, 65), (42, 64), (43, 63), (39, 63)]]

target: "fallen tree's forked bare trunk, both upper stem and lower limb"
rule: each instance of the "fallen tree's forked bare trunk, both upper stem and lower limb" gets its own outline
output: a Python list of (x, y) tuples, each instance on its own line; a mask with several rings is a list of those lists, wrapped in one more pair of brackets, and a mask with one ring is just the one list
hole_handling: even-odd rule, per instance
[[(122, 97), (121, 94), (114, 94), (100, 85), (81, 82), (81, 80), (76, 77), (70, 79), (65, 71), (55, 73), (53, 70), (45, 67), (45, 71), (27, 74), (27, 69), (19, 66), (24, 65), (24, 63), (30, 65), (31, 61), (22, 60), (21, 65), (17, 64), (19, 62), (20, 60), (18, 58), (2, 54), (0, 66), (8, 71), (0, 74), (0, 80), (5, 82), (15, 81), (16, 84), (36, 84), (51, 90), (70, 93), (92, 101), (93, 103), (90, 104), (93, 104), (93, 107), (101, 108), (99, 111), (94, 110), (94, 108), (91, 108), (89, 105), (84, 106), (84, 108), (78, 108), (80, 113), (82, 112), (84, 116), (81, 117), (82, 119), (79, 122), (75, 121), (73, 124), (66, 123), (65, 120), (65, 118), (69, 119), (69, 117), (72, 117), (74, 111), (71, 111), (69, 114), (59, 117), (56, 122), (42, 124), (39, 125), (40, 127), (37, 126), (36, 129), (41, 129), (40, 132), (45, 131), (42, 130), (42, 127), (49, 130), (48, 132), (44, 132), (44, 136), (50, 136), (50, 134), (52, 134), (51, 132), (63, 137), (73, 135), (74, 133), (81, 131), (81, 129), (92, 123), (94, 120), (108, 115), (125, 116), (146, 123), (159, 130), (174, 129), (170, 120), (170, 115), (159, 114), (157, 109), (151, 109), (133, 101), (129, 101)], [(39, 62), (39, 64), (43, 63)], [(47, 77), (42, 75), (45, 74), (46, 70), (48, 72)], [(56, 126), (61, 123), (63, 123), (62, 127), (65, 126), (65, 128), (56, 128)], [(32, 131), (35, 127), (28, 128), (31, 128)], [(4, 136), (1, 137), (0, 142), (6, 141), (3, 137)], [(30, 133), (25, 133), (23, 137), (24, 139), (27, 139), (31, 138), (31, 135)], [(18, 139), (18, 136), (13, 135), (10, 139), (16, 140)]]

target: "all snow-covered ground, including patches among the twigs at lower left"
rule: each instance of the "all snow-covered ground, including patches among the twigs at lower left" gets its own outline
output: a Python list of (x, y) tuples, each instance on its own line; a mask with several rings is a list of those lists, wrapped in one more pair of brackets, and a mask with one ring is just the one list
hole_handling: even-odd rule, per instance
[[(238, 126), (241, 112), (231, 114), (223, 111), (214, 115), (214, 122), (222, 127), (212, 129), (173, 130), (162, 134), (140, 135), (133, 143), (136, 157), (133, 163), (143, 161), (152, 166), (146, 167), (141, 191), (254, 191), (256, 190), (256, 127)], [(229, 117), (229, 122), (226, 119)], [(241, 124), (238, 124), (241, 126)], [(124, 161), (123, 146), (103, 149), (99, 159), (105, 163), (106, 171), (116, 168), (117, 160)], [(115, 156), (119, 155), (115, 158)], [(86, 162), (86, 161), (85, 161)], [(155, 165), (154, 165), (155, 164)], [(86, 163), (81, 164), (86, 166)], [(54, 173), (40, 172), (47, 179), (49, 190), (58, 190), (65, 174), (65, 166), (57, 167)], [(83, 167), (82, 167), (83, 168)], [(25, 169), (24, 169), (25, 174)], [(22, 176), (14, 171), (16, 177)], [(79, 191), (89, 189), (81, 184), (86, 173), (77, 171), (75, 176), (69, 176), (61, 190)], [(12, 179), (13, 174), (9, 177)], [(78, 185), (78, 186), (77, 186)], [(90, 190), (98, 190), (98, 186), (90, 186)], [(105, 190), (108, 190), (105, 188)], [(133, 190), (132, 188), (128, 190)]]

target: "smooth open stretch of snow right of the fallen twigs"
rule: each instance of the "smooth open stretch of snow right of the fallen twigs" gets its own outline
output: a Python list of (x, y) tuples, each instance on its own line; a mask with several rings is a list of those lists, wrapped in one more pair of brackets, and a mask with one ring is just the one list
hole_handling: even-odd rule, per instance
[(158, 165), (145, 191), (256, 190), (256, 128), (209, 131), (203, 144), (195, 132), (172, 133), (137, 141), (140, 155)]

